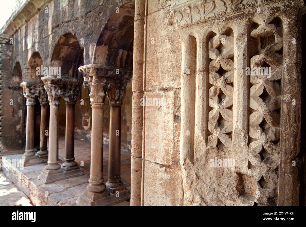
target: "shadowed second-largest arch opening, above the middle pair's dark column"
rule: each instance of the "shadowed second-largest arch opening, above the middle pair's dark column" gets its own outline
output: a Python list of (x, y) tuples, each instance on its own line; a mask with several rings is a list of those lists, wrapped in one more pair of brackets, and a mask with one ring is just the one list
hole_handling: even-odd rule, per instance
[(78, 68), (84, 64), (83, 52), (76, 36), (65, 33), (54, 46), (50, 67), (60, 67), (61, 77), (81, 78)]

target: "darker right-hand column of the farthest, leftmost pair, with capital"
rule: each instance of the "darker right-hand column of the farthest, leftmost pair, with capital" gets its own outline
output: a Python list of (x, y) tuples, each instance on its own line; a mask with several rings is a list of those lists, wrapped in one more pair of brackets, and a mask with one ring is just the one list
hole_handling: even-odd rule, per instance
[(41, 106), (40, 114), (40, 137), (39, 137), (39, 151), (36, 153), (37, 157), (47, 158), (47, 109), (48, 109), (48, 95), (44, 88), (44, 85), (39, 87), (39, 96), (38, 100)]

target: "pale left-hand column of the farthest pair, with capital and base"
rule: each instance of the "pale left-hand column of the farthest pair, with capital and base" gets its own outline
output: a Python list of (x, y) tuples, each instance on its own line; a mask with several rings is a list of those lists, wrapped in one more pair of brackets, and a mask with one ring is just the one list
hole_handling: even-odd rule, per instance
[(22, 82), (20, 85), (23, 88), (24, 97), (27, 99), (25, 153), (22, 158), (24, 159), (24, 165), (28, 166), (46, 161), (45, 158), (36, 157), (36, 149), (34, 149), (34, 106), (35, 97), (39, 95), (39, 85), (34, 82)]

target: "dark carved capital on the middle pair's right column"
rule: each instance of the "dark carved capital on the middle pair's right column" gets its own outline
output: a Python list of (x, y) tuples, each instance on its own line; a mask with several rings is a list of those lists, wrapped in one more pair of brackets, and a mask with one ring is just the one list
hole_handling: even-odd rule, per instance
[(64, 79), (64, 83), (65, 91), (63, 96), (66, 104), (75, 104), (77, 97), (79, 96), (83, 80)]

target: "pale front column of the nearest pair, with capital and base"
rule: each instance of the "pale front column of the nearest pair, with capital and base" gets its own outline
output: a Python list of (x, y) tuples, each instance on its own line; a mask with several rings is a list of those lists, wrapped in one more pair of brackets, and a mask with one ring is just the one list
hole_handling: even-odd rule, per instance
[[(87, 190), (76, 201), (78, 205), (110, 205), (129, 199), (127, 192), (122, 192), (119, 197), (110, 195), (103, 183), (103, 104), (106, 90), (112, 87), (112, 75), (115, 68), (90, 64), (81, 66), (79, 71), (84, 75), (91, 93), (90, 101), (92, 108), (91, 128), (91, 161), (90, 178)], [(87, 85), (85, 82), (84, 85)]]

